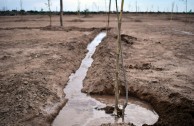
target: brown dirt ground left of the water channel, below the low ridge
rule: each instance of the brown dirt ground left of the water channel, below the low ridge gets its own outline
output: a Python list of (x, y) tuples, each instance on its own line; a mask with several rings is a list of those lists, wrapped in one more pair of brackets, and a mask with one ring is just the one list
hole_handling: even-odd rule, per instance
[(0, 125), (50, 125), (67, 100), (70, 74), (100, 31), (0, 30)]

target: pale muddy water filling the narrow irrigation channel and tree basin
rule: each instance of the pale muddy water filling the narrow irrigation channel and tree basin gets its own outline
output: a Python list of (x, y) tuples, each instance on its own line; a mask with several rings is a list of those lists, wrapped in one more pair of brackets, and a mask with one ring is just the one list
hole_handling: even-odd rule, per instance
[[(98, 98), (92, 98), (87, 94), (81, 93), (83, 87), (83, 80), (86, 77), (88, 68), (91, 66), (93, 59), (92, 55), (96, 50), (96, 46), (100, 44), (106, 33), (101, 32), (88, 45), (88, 53), (82, 60), (80, 68), (69, 77), (68, 84), (64, 89), (66, 97), (69, 99), (67, 104), (59, 112), (55, 118), (52, 126), (99, 126), (102, 123), (122, 122), (121, 118), (115, 119), (112, 115), (106, 114), (102, 110), (96, 110), (96, 107), (103, 108), (106, 106)], [(100, 96), (99, 96), (100, 97)], [(102, 97), (103, 99), (103, 97)], [(108, 97), (104, 101), (109, 101)], [(139, 104), (128, 103), (125, 112), (125, 122), (133, 123), (141, 126), (143, 124), (154, 124), (157, 122), (159, 116), (152, 109), (144, 105), (145, 103), (138, 101)]]

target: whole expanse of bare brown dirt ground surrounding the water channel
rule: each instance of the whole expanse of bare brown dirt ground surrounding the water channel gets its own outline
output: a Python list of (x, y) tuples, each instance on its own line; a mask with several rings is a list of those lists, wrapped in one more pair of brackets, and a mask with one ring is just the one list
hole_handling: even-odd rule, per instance
[[(24, 21), (0, 17), (0, 125), (50, 125), (67, 101), (63, 88), (68, 77), (107, 17), (64, 19), (65, 28), (49, 28), (47, 16), (24, 16)], [(124, 15), (128, 90), (153, 106), (160, 116), (156, 125), (193, 125), (194, 18), (189, 17), (190, 23), (183, 22), (183, 16), (168, 19)], [(59, 26), (59, 17), (53, 17), (53, 25)], [(113, 29), (93, 56), (83, 92), (113, 94), (116, 16), (111, 16), (110, 25)]]

